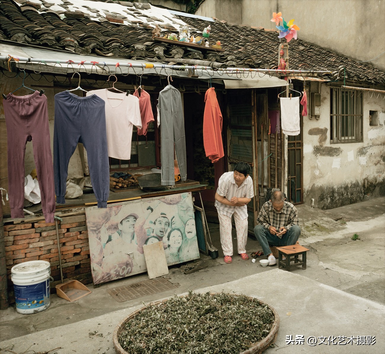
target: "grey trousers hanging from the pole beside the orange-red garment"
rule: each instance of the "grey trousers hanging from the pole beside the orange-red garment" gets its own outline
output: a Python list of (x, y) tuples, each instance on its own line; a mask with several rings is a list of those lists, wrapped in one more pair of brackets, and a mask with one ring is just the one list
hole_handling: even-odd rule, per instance
[(175, 185), (174, 144), (181, 180), (186, 181), (186, 137), (181, 93), (172, 85), (159, 92), (158, 124), (161, 124), (162, 186)]

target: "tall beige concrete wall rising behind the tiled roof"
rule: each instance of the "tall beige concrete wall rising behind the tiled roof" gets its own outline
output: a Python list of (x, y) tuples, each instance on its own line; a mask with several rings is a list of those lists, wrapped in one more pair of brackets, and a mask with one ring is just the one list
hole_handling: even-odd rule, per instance
[[(298, 38), (348, 57), (370, 60), (385, 50), (378, 18), (385, 13), (385, 0), (206, 0), (196, 14), (275, 29), (273, 12), (295, 19)], [(385, 70), (385, 54), (371, 63)]]

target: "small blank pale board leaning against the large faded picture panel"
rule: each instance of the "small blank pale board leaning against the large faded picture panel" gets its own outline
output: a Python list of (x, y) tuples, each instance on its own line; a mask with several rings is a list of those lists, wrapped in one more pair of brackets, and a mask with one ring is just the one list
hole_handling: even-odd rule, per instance
[(143, 245), (144, 259), (149, 279), (154, 279), (169, 273), (163, 242), (159, 241), (151, 245)]

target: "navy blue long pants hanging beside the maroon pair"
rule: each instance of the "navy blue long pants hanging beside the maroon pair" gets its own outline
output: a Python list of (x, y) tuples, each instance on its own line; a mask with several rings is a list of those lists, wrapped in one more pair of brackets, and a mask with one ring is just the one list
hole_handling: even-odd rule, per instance
[(105, 126), (105, 101), (99, 96), (79, 97), (68, 91), (55, 95), (54, 175), (57, 203), (65, 204), (68, 163), (77, 143), (83, 143), (97, 206), (107, 208), (110, 175)]

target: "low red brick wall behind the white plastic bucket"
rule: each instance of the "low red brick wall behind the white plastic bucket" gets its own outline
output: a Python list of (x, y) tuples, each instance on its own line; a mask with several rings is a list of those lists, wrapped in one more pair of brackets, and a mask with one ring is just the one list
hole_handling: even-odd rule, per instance
[[(62, 258), (63, 281), (79, 280), (83, 284), (92, 283), (90, 248), (85, 212), (58, 215), (60, 253)], [(22, 223), (4, 223), (5, 260), (8, 277), (8, 300), (14, 302), (11, 268), (21, 262), (46, 260), (51, 265), (51, 293), (55, 285), (61, 283), (59, 252), (55, 223), (42, 220)]]

